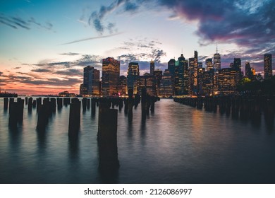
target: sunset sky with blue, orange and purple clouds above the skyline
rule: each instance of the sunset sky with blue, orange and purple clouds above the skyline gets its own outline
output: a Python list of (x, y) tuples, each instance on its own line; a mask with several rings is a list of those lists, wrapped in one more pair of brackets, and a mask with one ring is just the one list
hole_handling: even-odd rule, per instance
[(83, 67), (102, 59), (140, 73), (197, 50), (200, 62), (221, 54), (263, 71), (275, 57), (274, 0), (0, 0), (0, 88), (20, 95), (79, 93)]

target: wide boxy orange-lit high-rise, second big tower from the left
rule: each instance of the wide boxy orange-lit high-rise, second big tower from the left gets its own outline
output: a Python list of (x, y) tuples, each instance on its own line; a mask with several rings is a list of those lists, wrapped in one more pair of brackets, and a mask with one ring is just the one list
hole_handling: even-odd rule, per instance
[(112, 57), (102, 59), (102, 95), (117, 95), (120, 62)]

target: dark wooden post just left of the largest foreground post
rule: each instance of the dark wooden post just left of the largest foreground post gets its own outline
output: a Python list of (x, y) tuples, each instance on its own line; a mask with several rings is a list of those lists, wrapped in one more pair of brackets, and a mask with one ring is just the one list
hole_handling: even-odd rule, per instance
[(80, 106), (81, 102), (78, 98), (73, 98), (70, 105), (70, 117), (68, 126), (68, 136), (75, 137), (78, 136), (80, 128)]

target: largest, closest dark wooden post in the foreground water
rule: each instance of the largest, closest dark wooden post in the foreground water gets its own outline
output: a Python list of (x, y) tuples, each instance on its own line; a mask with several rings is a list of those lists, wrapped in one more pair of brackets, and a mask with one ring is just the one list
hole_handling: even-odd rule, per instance
[(97, 141), (99, 145), (99, 170), (103, 173), (118, 170), (117, 122), (118, 110), (109, 109), (106, 101), (99, 104)]

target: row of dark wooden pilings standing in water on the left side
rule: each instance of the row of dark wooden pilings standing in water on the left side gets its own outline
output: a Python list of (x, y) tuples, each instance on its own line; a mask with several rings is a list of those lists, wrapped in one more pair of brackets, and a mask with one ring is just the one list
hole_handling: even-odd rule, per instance
[[(142, 102), (142, 119), (149, 114), (149, 110), (154, 112), (154, 103), (158, 100), (151, 97), (145, 91), (140, 95), (131, 95), (129, 98), (82, 98), (82, 110), (91, 108), (92, 116), (95, 115), (96, 106), (99, 107), (97, 141), (99, 146), (99, 169), (104, 173), (117, 170), (118, 149), (117, 149), (117, 117), (118, 110), (121, 111), (124, 105), (124, 113), (129, 119), (133, 117), (133, 107), (138, 107)], [(9, 105), (8, 105), (9, 104)], [(63, 105), (70, 105), (68, 137), (70, 141), (78, 139), (80, 129), (81, 101), (78, 98), (25, 98), (27, 111), (32, 112), (37, 109), (37, 132), (45, 132), (51, 115), (60, 110)], [(115, 109), (118, 107), (118, 109)], [(24, 100), (17, 98), (4, 98), (4, 110), (9, 109), (9, 127), (16, 128), (18, 123), (23, 121)]]

